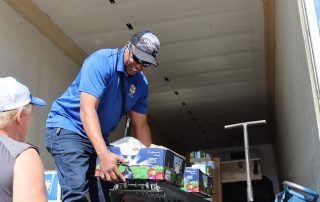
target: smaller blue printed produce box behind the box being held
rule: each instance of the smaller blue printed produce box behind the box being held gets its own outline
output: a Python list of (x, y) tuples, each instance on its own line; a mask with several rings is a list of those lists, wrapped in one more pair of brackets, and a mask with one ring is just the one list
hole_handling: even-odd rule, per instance
[(186, 167), (183, 180), (183, 191), (212, 196), (212, 177), (204, 174), (199, 168)]

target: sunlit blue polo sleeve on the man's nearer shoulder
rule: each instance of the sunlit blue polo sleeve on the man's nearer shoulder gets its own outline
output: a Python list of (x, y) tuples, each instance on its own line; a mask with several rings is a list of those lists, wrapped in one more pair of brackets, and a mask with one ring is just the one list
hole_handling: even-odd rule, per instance
[(89, 56), (82, 65), (79, 91), (100, 100), (108, 86), (113, 66), (114, 63), (102, 55), (94, 53)]

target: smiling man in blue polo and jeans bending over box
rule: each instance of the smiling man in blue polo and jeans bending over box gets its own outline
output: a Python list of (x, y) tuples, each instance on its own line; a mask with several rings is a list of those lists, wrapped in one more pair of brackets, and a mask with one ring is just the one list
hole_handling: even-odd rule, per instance
[(45, 146), (55, 160), (63, 201), (108, 201), (107, 183), (94, 177), (96, 158), (103, 180), (125, 181), (120, 156), (108, 151), (108, 136), (128, 113), (134, 136), (150, 146), (147, 123), (148, 82), (143, 70), (157, 66), (160, 41), (138, 32), (122, 49), (101, 49), (83, 63), (80, 73), (49, 112)]

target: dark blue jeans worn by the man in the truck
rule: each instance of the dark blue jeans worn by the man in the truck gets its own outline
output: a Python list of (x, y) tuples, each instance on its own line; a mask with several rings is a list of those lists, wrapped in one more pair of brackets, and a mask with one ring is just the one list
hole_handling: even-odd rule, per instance
[(113, 183), (94, 176), (97, 154), (88, 138), (63, 128), (47, 128), (45, 146), (55, 160), (62, 201), (87, 202), (88, 191), (92, 202), (110, 201)]

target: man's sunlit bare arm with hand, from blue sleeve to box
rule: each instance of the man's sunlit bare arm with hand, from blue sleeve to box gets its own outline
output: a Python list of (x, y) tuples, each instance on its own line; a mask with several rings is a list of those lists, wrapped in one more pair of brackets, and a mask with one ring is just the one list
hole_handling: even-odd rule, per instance
[(125, 177), (118, 169), (118, 162), (125, 159), (117, 156), (107, 149), (107, 145), (101, 134), (100, 122), (97, 114), (99, 99), (85, 92), (80, 94), (80, 117), (83, 127), (90, 139), (104, 171), (104, 180), (125, 181)]

